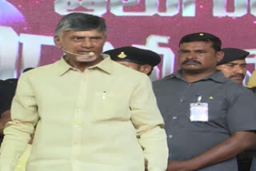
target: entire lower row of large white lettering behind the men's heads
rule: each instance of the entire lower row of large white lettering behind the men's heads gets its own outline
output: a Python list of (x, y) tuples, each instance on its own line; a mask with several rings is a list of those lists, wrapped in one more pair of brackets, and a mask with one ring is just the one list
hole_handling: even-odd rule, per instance
[[(167, 44), (169, 37), (161, 35), (150, 35), (146, 38), (146, 45), (132, 45), (138, 48), (153, 50), (162, 55), (162, 70), (158, 66), (155, 67), (151, 76), (152, 80), (163, 78), (174, 72), (174, 52), (168, 47), (161, 47), (159, 43)], [(17, 66), (19, 44), (22, 44), (22, 66)], [(0, 79), (16, 78), (17, 68), (23, 70), (27, 67), (37, 67), (41, 58), (42, 45), (54, 46), (53, 37), (34, 35), (34, 34), (18, 34), (7, 26), (0, 26)], [(114, 49), (110, 42), (106, 42), (103, 50)], [(256, 56), (256, 49), (247, 50), (250, 54)], [(246, 58), (247, 63), (256, 64), (256, 57)], [(256, 66), (255, 66), (256, 70)]]

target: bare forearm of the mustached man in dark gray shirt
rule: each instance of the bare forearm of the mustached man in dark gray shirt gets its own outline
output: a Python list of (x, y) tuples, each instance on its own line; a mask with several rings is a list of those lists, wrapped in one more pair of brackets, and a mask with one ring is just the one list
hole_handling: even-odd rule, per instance
[(226, 141), (188, 161), (169, 161), (167, 171), (193, 171), (225, 161), (256, 143), (256, 134), (250, 131), (232, 133)]

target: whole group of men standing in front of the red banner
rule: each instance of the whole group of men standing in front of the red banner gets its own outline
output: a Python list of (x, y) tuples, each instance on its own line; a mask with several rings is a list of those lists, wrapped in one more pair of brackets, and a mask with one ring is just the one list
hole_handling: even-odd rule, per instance
[(105, 42), (104, 18), (67, 14), (61, 59), (0, 82), (1, 171), (256, 170), (249, 52), (187, 34), (180, 70), (152, 83), (158, 54)]

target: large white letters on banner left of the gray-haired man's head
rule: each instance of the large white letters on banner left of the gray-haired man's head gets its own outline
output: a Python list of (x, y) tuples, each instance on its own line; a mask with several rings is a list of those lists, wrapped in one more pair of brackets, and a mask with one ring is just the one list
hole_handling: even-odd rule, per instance
[(36, 67), (41, 57), (42, 45), (54, 45), (53, 38), (49, 36), (18, 34), (7, 26), (0, 26), (0, 79), (16, 78), (18, 70), (19, 43), (22, 43), (22, 66)]

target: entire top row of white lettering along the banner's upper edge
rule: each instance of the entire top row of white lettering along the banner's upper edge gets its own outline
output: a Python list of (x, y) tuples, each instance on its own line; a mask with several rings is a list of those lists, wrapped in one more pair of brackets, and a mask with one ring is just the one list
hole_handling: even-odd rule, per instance
[[(253, 14), (256, 17), (256, 0), (230, 0), (234, 1), (234, 11), (226, 10), (226, 0), (213, 0), (214, 17), (242, 17), (246, 14)], [(250, 1), (250, 3), (249, 3)], [(116, 16), (175, 16), (182, 14), (183, 17), (195, 17), (195, 0), (166, 0), (166, 11), (159, 11), (161, 0), (145, 0), (144, 4), (140, 0), (56, 0), (54, 10), (56, 13), (65, 15), (73, 12), (85, 12), (94, 15), (103, 15), (109, 10)], [(125, 11), (125, 7), (142, 5), (144, 10)], [(182, 7), (181, 7), (182, 6)], [(84, 10), (76, 10), (83, 7)], [(182, 10), (181, 10), (182, 8)]]

